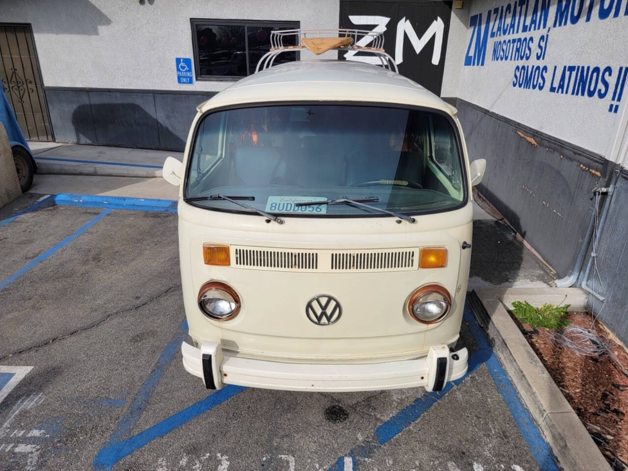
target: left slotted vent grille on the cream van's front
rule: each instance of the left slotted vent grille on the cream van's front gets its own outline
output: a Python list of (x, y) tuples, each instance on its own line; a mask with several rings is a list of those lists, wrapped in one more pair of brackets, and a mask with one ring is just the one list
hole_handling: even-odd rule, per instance
[(313, 271), (318, 269), (318, 253), (236, 248), (236, 266)]

